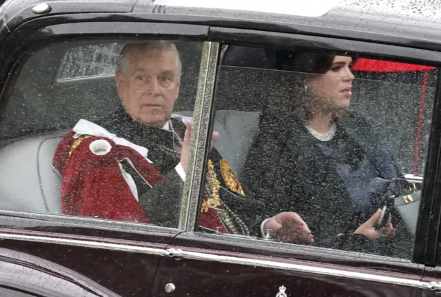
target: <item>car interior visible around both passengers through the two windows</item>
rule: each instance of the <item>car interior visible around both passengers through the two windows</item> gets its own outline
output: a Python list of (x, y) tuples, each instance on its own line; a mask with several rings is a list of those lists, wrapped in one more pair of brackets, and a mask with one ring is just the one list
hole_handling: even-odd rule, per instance
[[(61, 213), (61, 177), (52, 168), (54, 152), (79, 119), (93, 122), (119, 106), (112, 74), (115, 53), (123, 42), (118, 43), (120, 47), (111, 46), (114, 52), (106, 45), (115, 45), (115, 41), (57, 43), (29, 52), (19, 61), (0, 101), (0, 210)], [(176, 43), (183, 64), (176, 115), (192, 116), (202, 45)], [(88, 55), (91, 48), (101, 50)], [(72, 49), (86, 50), (72, 54)], [(240, 179), (263, 113), (275, 98), (283, 102), (287, 84), (283, 72), (274, 71), (265, 51), (258, 47), (244, 52), (240, 47), (225, 46), (221, 63), (214, 94), (213, 130), (220, 133), (215, 147)], [(362, 83), (354, 83), (353, 109), (372, 118), (378, 129), (388, 126), (391, 146), (404, 160), (405, 171), (422, 174), (430, 117), (424, 117), (421, 124), (418, 155), (422, 160), (413, 172), (420, 74), (354, 73)], [(425, 94), (420, 113), (431, 115), (431, 85)]]

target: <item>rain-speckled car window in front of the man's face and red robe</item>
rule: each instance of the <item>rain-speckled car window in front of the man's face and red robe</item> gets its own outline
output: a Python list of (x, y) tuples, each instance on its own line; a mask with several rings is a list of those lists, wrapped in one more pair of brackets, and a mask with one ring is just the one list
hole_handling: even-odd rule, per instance
[(29, 52), (1, 98), (0, 210), (176, 228), (203, 43)]

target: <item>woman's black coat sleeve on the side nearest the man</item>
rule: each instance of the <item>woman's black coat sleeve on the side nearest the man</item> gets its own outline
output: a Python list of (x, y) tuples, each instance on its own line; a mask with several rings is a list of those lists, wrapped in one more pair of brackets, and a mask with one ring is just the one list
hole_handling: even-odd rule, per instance
[(263, 220), (280, 212), (296, 212), (318, 234), (321, 202), (314, 199), (322, 189), (311, 181), (321, 181), (327, 173), (320, 170), (317, 151), (302, 127), (277, 122), (260, 130), (243, 179), (247, 197), (263, 203), (254, 213), (259, 219), (249, 226), (255, 236), (260, 236)]

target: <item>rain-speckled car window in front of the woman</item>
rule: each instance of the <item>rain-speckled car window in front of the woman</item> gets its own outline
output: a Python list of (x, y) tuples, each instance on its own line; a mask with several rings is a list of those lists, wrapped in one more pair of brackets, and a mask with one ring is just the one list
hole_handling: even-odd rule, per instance
[(410, 259), (436, 69), (239, 46), (221, 63), (201, 230)]

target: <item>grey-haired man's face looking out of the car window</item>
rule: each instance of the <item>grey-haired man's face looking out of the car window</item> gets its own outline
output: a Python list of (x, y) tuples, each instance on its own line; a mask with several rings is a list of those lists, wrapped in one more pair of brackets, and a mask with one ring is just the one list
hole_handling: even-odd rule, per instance
[(181, 74), (172, 51), (129, 53), (126, 69), (116, 72), (116, 89), (136, 122), (162, 128), (178, 98)]

